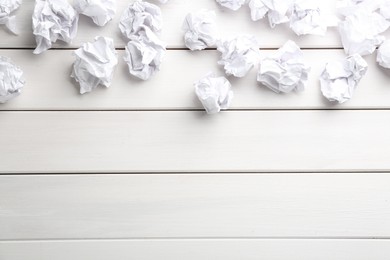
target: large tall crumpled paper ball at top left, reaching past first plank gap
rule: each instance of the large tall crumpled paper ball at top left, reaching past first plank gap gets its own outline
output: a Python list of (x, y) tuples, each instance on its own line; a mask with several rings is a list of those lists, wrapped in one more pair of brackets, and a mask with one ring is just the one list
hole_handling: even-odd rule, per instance
[(50, 49), (57, 40), (70, 43), (77, 34), (78, 18), (67, 0), (36, 0), (32, 16), (37, 43), (34, 54)]

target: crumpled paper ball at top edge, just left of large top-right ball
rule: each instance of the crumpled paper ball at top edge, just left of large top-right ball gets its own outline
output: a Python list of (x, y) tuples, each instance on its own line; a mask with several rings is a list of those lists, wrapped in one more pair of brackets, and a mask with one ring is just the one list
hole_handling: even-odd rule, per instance
[(321, 13), (318, 1), (298, 0), (293, 4), (290, 28), (297, 35), (325, 35), (327, 23), (327, 18)]

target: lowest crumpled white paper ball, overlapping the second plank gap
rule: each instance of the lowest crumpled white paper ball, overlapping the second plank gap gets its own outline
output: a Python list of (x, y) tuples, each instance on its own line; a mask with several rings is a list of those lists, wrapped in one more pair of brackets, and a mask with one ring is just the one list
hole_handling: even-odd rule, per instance
[(208, 73), (195, 82), (194, 86), (195, 93), (207, 114), (215, 114), (221, 109), (227, 109), (233, 99), (230, 82), (225, 77), (215, 76), (214, 73)]

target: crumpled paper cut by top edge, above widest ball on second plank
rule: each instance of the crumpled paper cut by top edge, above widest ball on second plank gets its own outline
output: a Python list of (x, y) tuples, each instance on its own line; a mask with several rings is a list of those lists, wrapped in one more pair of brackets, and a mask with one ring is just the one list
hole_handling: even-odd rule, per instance
[(287, 23), (289, 19), (289, 10), (293, 0), (250, 0), (249, 8), (253, 21), (263, 19), (268, 16), (268, 22), (271, 28), (277, 24)]

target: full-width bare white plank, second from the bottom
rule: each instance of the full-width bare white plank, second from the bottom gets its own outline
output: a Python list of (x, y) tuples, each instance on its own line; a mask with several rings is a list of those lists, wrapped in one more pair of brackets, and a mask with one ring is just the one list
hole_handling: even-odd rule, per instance
[(0, 176), (0, 240), (388, 238), (390, 174)]

